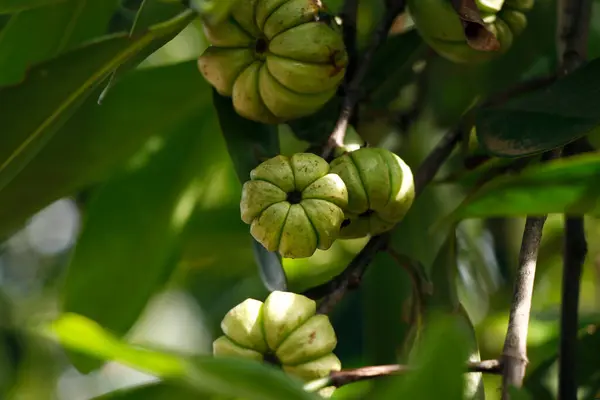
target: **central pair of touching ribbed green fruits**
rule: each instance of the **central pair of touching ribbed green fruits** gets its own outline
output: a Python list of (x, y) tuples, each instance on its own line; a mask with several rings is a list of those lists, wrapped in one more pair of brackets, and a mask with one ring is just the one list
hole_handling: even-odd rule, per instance
[(331, 163), (312, 153), (273, 157), (252, 170), (240, 209), (267, 250), (304, 258), (338, 238), (390, 230), (414, 196), (412, 172), (400, 157), (362, 148)]

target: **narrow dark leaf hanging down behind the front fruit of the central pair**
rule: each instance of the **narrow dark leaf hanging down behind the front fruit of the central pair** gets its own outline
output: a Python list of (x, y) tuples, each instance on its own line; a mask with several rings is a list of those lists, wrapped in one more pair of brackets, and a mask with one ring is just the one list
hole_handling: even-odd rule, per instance
[[(277, 126), (264, 125), (241, 117), (230, 98), (213, 89), (213, 103), (219, 116), (221, 132), (240, 183), (250, 179), (250, 171), (261, 162), (279, 154)], [(267, 288), (285, 290), (285, 271), (279, 255), (269, 252), (253, 240), (254, 258)]]

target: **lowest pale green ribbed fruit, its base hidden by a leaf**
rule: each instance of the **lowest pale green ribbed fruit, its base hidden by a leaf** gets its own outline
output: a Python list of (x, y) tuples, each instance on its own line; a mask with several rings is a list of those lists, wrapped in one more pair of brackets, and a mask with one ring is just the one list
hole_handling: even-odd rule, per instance
[(315, 301), (296, 293), (274, 291), (264, 303), (246, 299), (225, 315), (221, 330), (215, 356), (269, 362), (303, 381), (341, 369), (329, 317), (316, 314)]

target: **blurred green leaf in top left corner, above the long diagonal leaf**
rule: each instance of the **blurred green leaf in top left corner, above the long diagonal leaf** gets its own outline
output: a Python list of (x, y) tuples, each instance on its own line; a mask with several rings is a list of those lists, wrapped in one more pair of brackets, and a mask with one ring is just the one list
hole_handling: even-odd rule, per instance
[(64, 0), (13, 14), (0, 34), (0, 86), (18, 83), (32, 65), (105, 34), (117, 6), (118, 0)]

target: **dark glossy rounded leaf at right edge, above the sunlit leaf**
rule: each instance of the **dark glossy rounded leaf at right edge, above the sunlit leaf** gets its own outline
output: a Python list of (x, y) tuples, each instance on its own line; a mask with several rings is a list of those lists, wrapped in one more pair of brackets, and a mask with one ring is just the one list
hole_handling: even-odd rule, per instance
[(519, 157), (563, 146), (600, 126), (600, 59), (551, 86), (481, 109), (477, 136), (487, 151)]

